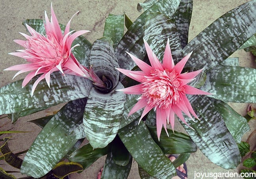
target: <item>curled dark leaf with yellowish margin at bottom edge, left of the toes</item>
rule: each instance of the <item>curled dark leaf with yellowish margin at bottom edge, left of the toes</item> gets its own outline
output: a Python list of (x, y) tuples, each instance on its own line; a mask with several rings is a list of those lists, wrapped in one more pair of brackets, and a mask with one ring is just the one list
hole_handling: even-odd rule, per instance
[(69, 174), (80, 172), (82, 170), (83, 166), (79, 163), (62, 161), (56, 164), (56, 166), (52, 169), (52, 173), (54, 176), (63, 179)]

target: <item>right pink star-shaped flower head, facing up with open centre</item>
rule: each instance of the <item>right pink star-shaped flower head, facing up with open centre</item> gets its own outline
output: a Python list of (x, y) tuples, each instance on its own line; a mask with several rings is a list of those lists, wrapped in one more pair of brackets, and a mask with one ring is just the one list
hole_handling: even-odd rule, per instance
[(140, 82), (140, 84), (119, 89), (119, 91), (123, 91), (126, 94), (141, 94), (141, 97), (138, 99), (139, 101), (128, 114), (128, 116), (130, 116), (141, 108), (145, 108), (139, 122), (154, 108), (156, 111), (157, 135), (158, 140), (160, 140), (162, 126), (167, 133), (166, 121), (168, 123), (170, 122), (172, 129), (174, 129), (174, 114), (185, 124), (187, 124), (187, 122), (182, 115), (182, 111), (191, 119), (193, 118), (190, 113), (198, 119), (186, 94), (210, 95), (210, 93), (187, 85), (194, 80), (202, 69), (189, 73), (181, 73), (192, 52), (174, 65), (168, 39), (163, 56), (163, 63), (161, 64), (145, 40), (144, 43), (151, 66), (127, 52), (142, 71), (130, 71), (120, 68), (118, 70), (124, 73), (124, 75)]

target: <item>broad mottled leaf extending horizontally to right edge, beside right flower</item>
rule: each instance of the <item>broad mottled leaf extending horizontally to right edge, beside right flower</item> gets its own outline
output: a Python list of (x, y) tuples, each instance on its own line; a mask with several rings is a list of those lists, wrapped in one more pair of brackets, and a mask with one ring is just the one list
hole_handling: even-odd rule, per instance
[(256, 69), (241, 66), (216, 66), (207, 73), (202, 90), (212, 98), (228, 102), (256, 102)]

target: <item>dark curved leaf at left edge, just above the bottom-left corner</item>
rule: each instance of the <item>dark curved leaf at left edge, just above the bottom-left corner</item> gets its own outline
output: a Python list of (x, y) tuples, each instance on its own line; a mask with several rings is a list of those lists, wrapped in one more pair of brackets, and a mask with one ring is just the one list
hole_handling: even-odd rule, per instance
[(14, 154), (9, 149), (7, 142), (10, 138), (11, 137), (5, 137), (4, 138), (4, 144), (0, 147), (0, 151), (4, 155), (4, 160), (6, 161), (6, 163), (8, 163), (9, 165), (11, 165), (15, 168), (20, 169), (22, 159), (20, 159), (18, 157), (18, 155)]

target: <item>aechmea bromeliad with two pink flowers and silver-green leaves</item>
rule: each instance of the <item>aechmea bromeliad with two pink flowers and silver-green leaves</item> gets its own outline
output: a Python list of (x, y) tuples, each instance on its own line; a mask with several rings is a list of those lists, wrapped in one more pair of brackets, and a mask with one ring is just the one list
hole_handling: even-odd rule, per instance
[[(126, 15), (109, 15), (104, 37), (93, 44), (80, 36), (87, 31), (70, 31), (70, 22), (58, 26), (53, 9), (50, 20), (45, 14), (45, 20), (24, 21), (30, 35), (16, 40), (25, 49), (12, 55), (29, 63), (7, 70), (32, 72), (0, 88), (0, 115), (15, 122), (68, 103), (33, 121), (43, 129), (20, 172), (61, 178), (107, 155), (102, 178), (126, 178), (132, 158), (142, 178), (171, 178), (176, 164), (197, 148), (213, 163), (236, 168), (236, 142), (249, 127), (226, 102), (256, 102), (250, 78), (256, 70), (224, 60), (256, 33), (256, 1), (224, 14), (188, 43), (192, 5), (151, 0), (139, 5), (145, 11), (133, 23)], [(174, 131), (175, 115), (189, 136)], [(84, 138), (89, 143), (78, 148)], [(169, 153), (180, 154), (177, 163)], [(59, 174), (64, 167), (71, 169)]]

